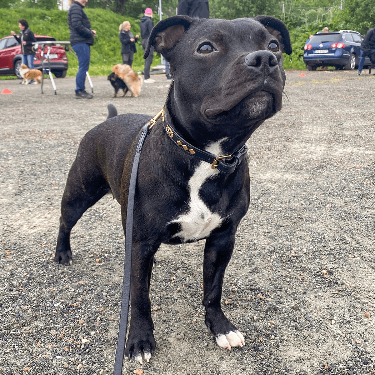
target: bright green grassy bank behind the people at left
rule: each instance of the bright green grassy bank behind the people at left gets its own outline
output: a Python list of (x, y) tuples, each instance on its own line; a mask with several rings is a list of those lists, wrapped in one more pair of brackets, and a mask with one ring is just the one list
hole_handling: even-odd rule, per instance
[[(90, 75), (108, 75), (115, 64), (122, 63), (121, 43), (118, 39), (118, 26), (123, 21), (129, 21), (134, 35), (140, 35), (139, 20), (123, 17), (111, 10), (99, 8), (85, 9), (90, 18), (91, 27), (96, 30), (97, 37), (91, 47)], [(30, 29), (40, 35), (49, 35), (56, 40), (69, 40), (69, 28), (67, 24), (68, 12), (64, 10), (43, 9), (0, 9), (2, 20), (0, 23), (0, 38), (10, 35), (10, 31), (19, 32), (18, 20), (27, 20)], [(156, 24), (157, 20), (154, 20)], [(133, 69), (142, 71), (144, 68), (142, 42), (139, 38), (136, 43), (137, 53), (134, 55)], [(78, 61), (71, 52), (68, 52), (68, 75), (76, 75)], [(160, 63), (160, 57), (155, 53), (153, 65)]]

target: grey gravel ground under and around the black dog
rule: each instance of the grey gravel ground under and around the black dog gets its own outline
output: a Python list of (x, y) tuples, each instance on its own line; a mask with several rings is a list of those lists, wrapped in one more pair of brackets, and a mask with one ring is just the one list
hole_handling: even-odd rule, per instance
[[(140, 374), (375, 372), (374, 76), (287, 72), (283, 110), (248, 142), (251, 204), (223, 285), (246, 346), (204, 325), (201, 242), (162, 246), (151, 280), (156, 351)], [(80, 139), (118, 113), (156, 114), (169, 82), (139, 98), (74, 99), (74, 78), (0, 81), (0, 373), (111, 374), (124, 257), (120, 207), (105, 196), (72, 231), (72, 266), (52, 261), (60, 199)]]

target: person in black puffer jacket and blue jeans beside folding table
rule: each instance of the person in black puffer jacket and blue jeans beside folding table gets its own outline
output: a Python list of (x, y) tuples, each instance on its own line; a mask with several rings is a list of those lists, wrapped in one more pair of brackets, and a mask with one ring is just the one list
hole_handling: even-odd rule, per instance
[(95, 30), (91, 30), (90, 20), (83, 11), (87, 0), (72, 1), (68, 10), (70, 42), (78, 57), (78, 72), (75, 77), (77, 99), (91, 99), (93, 96), (85, 90), (86, 72), (90, 66), (90, 46), (94, 44)]

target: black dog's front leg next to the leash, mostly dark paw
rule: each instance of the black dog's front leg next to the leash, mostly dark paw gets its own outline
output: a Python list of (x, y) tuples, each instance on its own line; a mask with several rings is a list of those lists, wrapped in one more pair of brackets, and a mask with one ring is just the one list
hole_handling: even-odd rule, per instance
[(149, 245), (133, 242), (130, 281), (131, 319), (125, 354), (136, 362), (150, 362), (156, 342), (151, 318), (150, 278), (155, 252)]

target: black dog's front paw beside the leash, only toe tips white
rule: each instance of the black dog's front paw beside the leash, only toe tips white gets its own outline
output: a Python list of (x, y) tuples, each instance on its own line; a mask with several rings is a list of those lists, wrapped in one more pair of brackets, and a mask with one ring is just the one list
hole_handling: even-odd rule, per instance
[(134, 331), (135, 330), (132, 330), (132, 332), (129, 333), (125, 355), (142, 365), (143, 362), (150, 362), (156, 347), (156, 341), (152, 329), (148, 330), (141, 327), (138, 330), (138, 335), (133, 334)]

